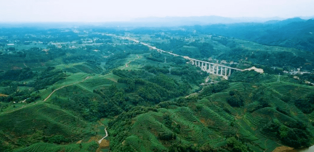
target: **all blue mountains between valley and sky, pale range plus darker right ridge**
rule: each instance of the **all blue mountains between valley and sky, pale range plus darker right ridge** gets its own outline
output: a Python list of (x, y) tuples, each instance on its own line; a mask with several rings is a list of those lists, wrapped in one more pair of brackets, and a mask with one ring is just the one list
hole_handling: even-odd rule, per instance
[(292, 47), (314, 52), (314, 16), (291, 19), (273, 18), (226, 18), (165, 17), (138, 18), (129, 22), (103, 23), (0, 23), (1, 28), (111, 28), (118, 31), (147, 28), (181, 27), (200, 33), (218, 34), (226, 37), (254, 41), (264, 45)]

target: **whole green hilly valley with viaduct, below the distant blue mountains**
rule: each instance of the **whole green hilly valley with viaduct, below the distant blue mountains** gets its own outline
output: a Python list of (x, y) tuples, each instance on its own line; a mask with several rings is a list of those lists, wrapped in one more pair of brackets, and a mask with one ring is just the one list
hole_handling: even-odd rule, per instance
[(0, 31), (0, 151), (314, 144), (313, 52), (191, 28)]

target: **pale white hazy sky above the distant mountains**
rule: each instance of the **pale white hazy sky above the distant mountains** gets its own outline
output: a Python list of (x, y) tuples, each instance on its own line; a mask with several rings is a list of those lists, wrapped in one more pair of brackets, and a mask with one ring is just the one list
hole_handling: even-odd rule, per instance
[(314, 16), (314, 0), (0, 0), (0, 22), (105, 22), (144, 17)]

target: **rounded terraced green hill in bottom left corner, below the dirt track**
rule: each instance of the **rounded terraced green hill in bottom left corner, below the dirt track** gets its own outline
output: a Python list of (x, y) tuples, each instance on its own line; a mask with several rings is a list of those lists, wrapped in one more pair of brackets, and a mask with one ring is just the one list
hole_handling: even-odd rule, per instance
[(95, 134), (82, 118), (45, 102), (1, 114), (0, 124), (3, 144), (13, 148), (43, 140), (70, 143)]

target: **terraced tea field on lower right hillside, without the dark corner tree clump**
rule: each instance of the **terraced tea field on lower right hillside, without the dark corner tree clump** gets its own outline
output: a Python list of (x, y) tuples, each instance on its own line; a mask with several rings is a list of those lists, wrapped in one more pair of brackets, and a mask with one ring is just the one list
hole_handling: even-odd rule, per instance
[[(314, 129), (310, 115), (302, 113), (290, 102), (281, 100), (287, 95), (291, 100), (297, 99), (300, 94), (314, 92), (314, 87), (291, 83), (289, 79), (276, 82), (275, 76), (273, 77), (271, 81), (264, 79), (262, 84), (229, 83), (228, 89), (191, 100), (187, 107), (169, 105), (168, 108), (158, 108), (158, 112), (140, 114), (132, 119), (129, 126), (131, 135), (123, 143), (131, 145), (136, 151), (163, 150), (169, 145), (180, 143), (206, 143), (220, 147), (226, 145), (226, 136), (237, 136), (255, 151), (272, 151), (282, 143), (273, 135), (262, 132), (267, 123), (278, 121), (280, 124), (289, 124), (302, 121), (307, 124), (308, 130)], [(244, 106), (231, 107), (228, 104), (231, 90), (243, 92)], [(256, 95), (258, 98), (269, 98), (269, 106), (260, 107), (258, 98), (254, 97)], [(187, 99), (197, 96), (195, 94)], [(277, 111), (276, 107), (288, 114)], [(165, 115), (169, 115), (170, 124), (165, 122)], [(162, 140), (160, 134), (175, 134), (176, 139)]]

